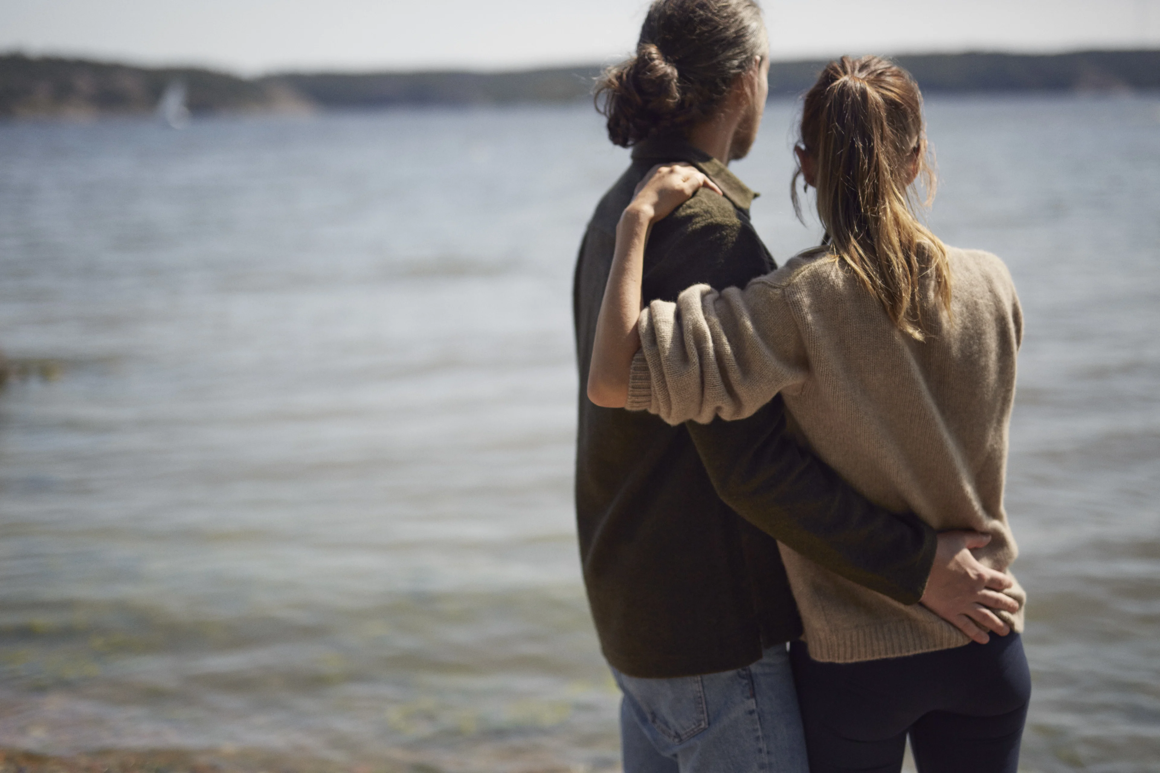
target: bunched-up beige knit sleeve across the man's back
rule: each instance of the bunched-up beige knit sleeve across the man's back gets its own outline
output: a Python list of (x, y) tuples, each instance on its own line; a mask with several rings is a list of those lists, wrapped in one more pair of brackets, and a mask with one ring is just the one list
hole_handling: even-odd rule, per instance
[(734, 421), (800, 386), (809, 360), (790, 293), (759, 278), (745, 290), (696, 285), (675, 304), (651, 302), (637, 323), (625, 407), (669, 424)]

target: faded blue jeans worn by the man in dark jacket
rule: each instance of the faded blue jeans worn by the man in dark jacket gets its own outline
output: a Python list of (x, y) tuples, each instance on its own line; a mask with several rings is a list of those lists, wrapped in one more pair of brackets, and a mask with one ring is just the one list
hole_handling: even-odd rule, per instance
[(744, 669), (640, 679), (612, 669), (624, 773), (806, 773), (785, 647)]

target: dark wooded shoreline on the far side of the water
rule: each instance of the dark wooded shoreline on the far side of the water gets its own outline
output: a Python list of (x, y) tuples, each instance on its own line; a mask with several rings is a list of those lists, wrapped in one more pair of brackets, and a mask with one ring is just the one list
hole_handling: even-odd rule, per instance
[[(928, 94), (1160, 89), (1160, 49), (1059, 54), (935, 53), (894, 59)], [(775, 61), (770, 97), (800, 94), (824, 59)], [(148, 115), (181, 83), (194, 115), (413, 105), (567, 103), (590, 99), (596, 65), (512, 72), (278, 73), (245, 79), (195, 67), (0, 54), (0, 118)]]

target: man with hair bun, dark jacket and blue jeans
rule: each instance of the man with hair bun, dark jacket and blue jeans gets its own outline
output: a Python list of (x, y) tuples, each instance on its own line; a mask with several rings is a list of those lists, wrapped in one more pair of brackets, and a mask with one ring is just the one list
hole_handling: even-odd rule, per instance
[(749, 223), (756, 194), (727, 168), (756, 139), (768, 68), (753, 0), (657, 0), (636, 54), (597, 85), (609, 139), (632, 162), (596, 206), (575, 267), (575, 502), (593, 618), (624, 693), (625, 773), (806, 771), (786, 656), (802, 621), (778, 540), (952, 622), (986, 598), (984, 584), (1006, 582), (971, 556), (977, 537), (878, 508), (804, 451), (780, 396), (745, 421), (669, 426), (586, 394), (617, 223), (652, 167), (691, 165), (722, 195), (701, 190), (653, 226), (645, 302), (775, 268)]

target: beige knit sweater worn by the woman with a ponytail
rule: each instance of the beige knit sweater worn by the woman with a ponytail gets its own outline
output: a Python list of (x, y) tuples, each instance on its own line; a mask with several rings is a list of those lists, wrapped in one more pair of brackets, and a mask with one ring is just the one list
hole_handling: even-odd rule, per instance
[[(950, 319), (920, 343), (900, 333), (841, 262), (805, 251), (745, 290), (689, 287), (640, 313), (628, 408), (670, 424), (744, 418), (778, 392), (803, 443), (871, 501), (937, 530), (992, 534), (977, 557), (1015, 560), (1003, 512), (1007, 428), (1022, 314), (1003, 263), (949, 249)], [(933, 282), (923, 287), (935, 309)], [(967, 643), (905, 606), (782, 546), (810, 655), (847, 663)], [(1023, 590), (1008, 591), (1023, 628)]]

